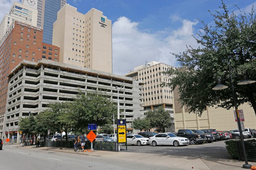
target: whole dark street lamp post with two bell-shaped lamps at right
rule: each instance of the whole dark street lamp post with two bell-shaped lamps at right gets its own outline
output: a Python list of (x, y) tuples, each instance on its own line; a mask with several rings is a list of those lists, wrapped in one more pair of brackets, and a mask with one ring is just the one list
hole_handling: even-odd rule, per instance
[[(216, 81), (217, 85), (215, 87), (213, 87), (213, 90), (222, 90), (222, 89), (228, 88), (228, 86), (225, 86), (225, 85), (221, 84), (221, 81), (230, 79), (232, 93), (233, 93), (233, 102), (234, 102), (234, 105), (235, 105), (235, 110), (236, 110), (236, 115), (237, 115), (237, 124), (238, 124), (239, 133), (240, 133), (243, 154), (244, 154), (244, 158), (245, 158), (245, 164), (243, 164), (243, 168), (250, 169), (252, 165), (248, 164), (248, 160), (247, 160), (244, 138), (243, 138), (243, 132), (242, 132), (239, 113), (238, 113), (238, 108), (237, 108), (236, 94), (235, 94), (235, 89), (234, 89), (234, 85), (233, 85), (233, 81), (232, 81), (231, 67), (230, 67), (229, 63), (228, 63), (228, 67), (229, 67), (229, 78), (227, 78), (227, 79), (217, 79), (217, 81)], [(246, 84), (251, 84), (251, 83), (256, 82), (254, 80), (248, 79), (246, 75), (238, 75), (238, 76), (234, 76), (234, 77), (241, 77), (241, 76), (243, 76), (243, 79), (239, 83), (237, 83), (238, 85), (246, 85)]]

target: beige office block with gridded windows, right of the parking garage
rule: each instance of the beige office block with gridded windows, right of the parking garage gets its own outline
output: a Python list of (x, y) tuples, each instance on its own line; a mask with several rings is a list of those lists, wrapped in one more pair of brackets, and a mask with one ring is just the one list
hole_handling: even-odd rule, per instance
[(131, 77), (132, 79), (142, 80), (143, 87), (141, 94), (143, 96), (142, 115), (146, 115), (148, 110), (153, 110), (159, 106), (163, 106), (167, 110), (172, 118), (172, 123), (166, 131), (174, 131), (174, 111), (173, 111), (173, 93), (169, 87), (161, 87), (162, 82), (169, 82), (173, 75), (163, 75), (162, 71), (166, 71), (172, 66), (152, 61), (144, 65), (135, 67), (133, 71), (124, 75)]

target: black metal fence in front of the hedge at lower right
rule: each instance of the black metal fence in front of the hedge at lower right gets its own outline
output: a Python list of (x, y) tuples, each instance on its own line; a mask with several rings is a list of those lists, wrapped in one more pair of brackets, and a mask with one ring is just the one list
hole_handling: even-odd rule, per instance
[[(247, 159), (256, 162), (256, 140), (244, 141)], [(237, 150), (239, 160), (244, 160), (244, 153), (241, 141), (237, 141)]]

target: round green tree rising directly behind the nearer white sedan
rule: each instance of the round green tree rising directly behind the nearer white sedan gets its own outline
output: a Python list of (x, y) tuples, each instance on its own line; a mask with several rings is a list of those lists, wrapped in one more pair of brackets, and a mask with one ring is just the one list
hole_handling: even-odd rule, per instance
[(149, 110), (146, 114), (146, 119), (148, 119), (151, 128), (159, 126), (162, 132), (165, 132), (165, 128), (171, 123), (171, 115), (167, 110), (164, 110), (163, 106)]

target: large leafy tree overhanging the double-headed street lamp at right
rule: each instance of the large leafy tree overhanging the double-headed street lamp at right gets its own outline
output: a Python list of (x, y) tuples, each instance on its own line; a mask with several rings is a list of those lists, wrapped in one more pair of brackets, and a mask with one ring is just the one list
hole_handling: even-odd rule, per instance
[[(238, 8), (239, 9), (239, 8)], [(223, 11), (223, 12), (220, 12)], [(214, 91), (217, 78), (229, 78), (228, 63), (234, 69), (233, 76), (247, 73), (250, 79), (256, 80), (256, 15), (252, 8), (249, 14), (240, 11), (237, 15), (229, 12), (222, 1), (220, 11), (213, 16), (213, 25), (203, 21), (203, 28), (194, 36), (199, 47), (189, 46), (186, 51), (175, 55), (183, 69), (168, 69), (163, 73), (175, 75), (169, 86), (179, 91), (179, 102), (186, 105), (189, 112), (202, 114), (207, 107), (230, 109), (234, 106), (230, 81), (225, 83), (229, 88)], [(185, 69), (185, 70), (184, 70)], [(237, 72), (237, 73), (236, 73)], [(238, 106), (249, 103), (256, 114), (256, 84), (237, 85), (240, 78), (233, 80)]]

